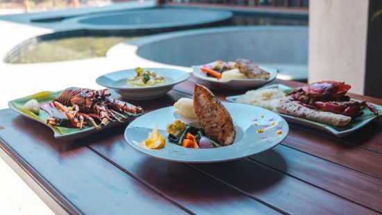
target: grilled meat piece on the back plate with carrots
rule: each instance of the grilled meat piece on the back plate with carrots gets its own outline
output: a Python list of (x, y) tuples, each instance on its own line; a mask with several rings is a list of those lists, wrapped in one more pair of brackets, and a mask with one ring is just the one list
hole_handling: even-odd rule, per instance
[(269, 79), (270, 74), (265, 70), (261, 69), (251, 60), (247, 59), (238, 59), (235, 62), (235, 67), (244, 74), (249, 79)]

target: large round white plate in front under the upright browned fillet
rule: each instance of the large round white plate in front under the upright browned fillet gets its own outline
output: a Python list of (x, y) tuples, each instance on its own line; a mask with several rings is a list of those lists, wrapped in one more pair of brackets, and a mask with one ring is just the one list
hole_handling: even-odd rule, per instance
[[(167, 161), (188, 163), (212, 163), (241, 159), (269, 150), (283, 141), (289, 132), (288, 123), (281, 116), (256, 106), (223, 102), (231, 113), (236, 129), (235, 142), (221, 148), (192, 149), (169, 143), (166, 126), (175, 119), (182, 119), (173, 106), (151, 111), (133, 120), (125, 131), (125, 139), (131, 147), (151, 157)], [(182, 119), (183, 120), (183, 119)], [(142, 146), (153, 127), (158, 125), (166, 146), (160, 150), (149, 150)], [(258, 129), (264, 129), (258, 133)], [(276, 134), (281, 131), (281, 134)]]

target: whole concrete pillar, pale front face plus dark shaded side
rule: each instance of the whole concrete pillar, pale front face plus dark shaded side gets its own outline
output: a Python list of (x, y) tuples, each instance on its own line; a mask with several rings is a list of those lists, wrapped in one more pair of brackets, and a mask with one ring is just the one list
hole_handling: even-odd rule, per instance
[[(381, 0), (309, 1), (309, 79), (382, 98)], [(378, 15), (374, 17), (375, 15)]]

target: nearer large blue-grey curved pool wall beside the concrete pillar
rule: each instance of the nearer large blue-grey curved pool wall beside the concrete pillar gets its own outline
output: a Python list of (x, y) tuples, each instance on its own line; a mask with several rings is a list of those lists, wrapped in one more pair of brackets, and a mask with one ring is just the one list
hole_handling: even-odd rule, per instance
[[(163, 33), (128, 43), (150, 61), (189, 67), (250, 58), (274, 67), (283, 79), (308, 78), (308, 28), (238, 26)], [(109, 54), (108, 54), (109, 56)], [(110, 54), (113, 56), (113, 54)]]

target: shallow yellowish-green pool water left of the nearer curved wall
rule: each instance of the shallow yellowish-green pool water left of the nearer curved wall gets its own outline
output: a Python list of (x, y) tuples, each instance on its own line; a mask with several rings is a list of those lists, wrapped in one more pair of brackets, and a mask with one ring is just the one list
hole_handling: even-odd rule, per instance
[(106, 56), (106, 51), (119, 42), (128, 42), (137, 36), (80, 36), (45, 40), (28, 45), (7, 63), (45, 63), (72, 61)]

